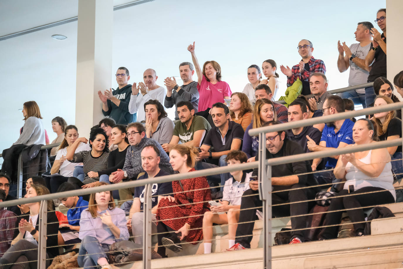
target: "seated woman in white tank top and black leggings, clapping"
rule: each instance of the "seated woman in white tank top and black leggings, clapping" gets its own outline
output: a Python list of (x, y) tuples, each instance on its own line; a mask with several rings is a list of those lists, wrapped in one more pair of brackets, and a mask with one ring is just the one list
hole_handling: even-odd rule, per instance
[[(353, 126), (353, 140), (355, 144), (347, 147), (378, 141), (376, 125), (369, 119), (357, 120)], [(355, 235), (364, 235), (366, 223), (363, 207), (395, 202), (391, 168), (391, 156), (386, 148), (339, 156), (334, 176), (345, 182), (339, 194), (330, 200), (325, 222), (332, 226), (324, 228), (321, 240), (337, 237), (343, 209), (349, 209), (347, 213), (354, 223)]]

